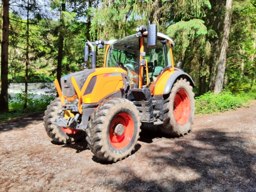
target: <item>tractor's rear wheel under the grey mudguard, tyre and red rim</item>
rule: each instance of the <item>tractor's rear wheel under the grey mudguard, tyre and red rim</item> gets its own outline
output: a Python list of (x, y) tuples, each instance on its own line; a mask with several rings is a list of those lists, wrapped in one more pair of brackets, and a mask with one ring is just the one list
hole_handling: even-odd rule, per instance
[[(195, 114), (194, 95), (192, 86), (190, 86), (187, 79), (180, 78), (176, 81), (171, 93), (165, 95), (164, 98), (164, 124), (159, 126), (162, 132), (171, 136), (184, 136), (184, 134), (190, 132)], [(177, 112), (174, 112), (174, 110), (177, 110), (177, 98), (178, 100), (184, 99), (182, 107), (179, 108), (181, 109), (179, 115), (182, 114), (180, 119), (176, 115)], [(185, 103), (185, 107), (183, 107), (183, 103)]]

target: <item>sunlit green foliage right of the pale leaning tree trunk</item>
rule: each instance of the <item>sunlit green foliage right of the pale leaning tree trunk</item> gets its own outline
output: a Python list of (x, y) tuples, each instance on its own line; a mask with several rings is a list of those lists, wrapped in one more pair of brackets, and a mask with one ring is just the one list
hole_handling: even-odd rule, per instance
[[(229, 37), (226, 75), (227, 86), (232, 92), (248, 91), (256, 77), (256, 6), (253, 1), (234, 2)], [(250, 88), (244, 85), (250, 84)]]

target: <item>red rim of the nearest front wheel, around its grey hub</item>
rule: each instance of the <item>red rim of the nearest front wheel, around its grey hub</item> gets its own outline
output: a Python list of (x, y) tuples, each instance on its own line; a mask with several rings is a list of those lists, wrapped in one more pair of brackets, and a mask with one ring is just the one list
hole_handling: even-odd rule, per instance
[[(122, 135), (115, 134), (116, 125), (124, 125), (124, 133)], [(125, 112), (117, 114), (110, 123), (109, 141), (114, 148), (124, 148), (132, 140), (134, 132), (132, 117)]]

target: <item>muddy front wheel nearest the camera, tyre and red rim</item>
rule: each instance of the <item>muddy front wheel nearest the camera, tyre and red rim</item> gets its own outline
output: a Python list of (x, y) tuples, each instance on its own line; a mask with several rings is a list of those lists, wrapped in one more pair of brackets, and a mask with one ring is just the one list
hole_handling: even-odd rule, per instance
[[(121, 119), (121, 123), (118, 119)], [(129, 121), (130, 119), (132, 121)], [(113, 130), (117, 127), (117, 124), (114, 124), (116, 120), (119, 121), (118, 125), (123, 124), (126, 127), (123, 134), (120, 134), (120, 137), (124, 137), (120, 143), (119, 141), (116, 143), (112, 142), (113, 138), (119, 137), (119, 135), (112, 134)], [(101, 160), (109, 162), (120, 161), (131, 155), (135, 149), (141, 131), (140, 125), (139, 111), (131, 101), (123, 98), (105, 100), (90, 116), (86, 130), (88, 147)], [(133, 131), (131, 131), (132, 129)], [(130, 136), (128, 137), (127, 135), (129, 134)]]

